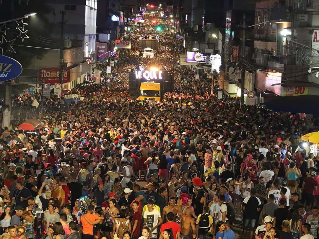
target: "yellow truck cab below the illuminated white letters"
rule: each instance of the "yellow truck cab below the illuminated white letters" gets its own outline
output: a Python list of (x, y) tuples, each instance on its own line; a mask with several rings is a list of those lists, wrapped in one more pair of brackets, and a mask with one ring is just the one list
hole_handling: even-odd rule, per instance
[(154, 99), (156, 101), (160, 101), (160, 83), (155, 83), (154, 81), (141, 82), (140, 88), (138, 90), (138, 98), (140, 100)]

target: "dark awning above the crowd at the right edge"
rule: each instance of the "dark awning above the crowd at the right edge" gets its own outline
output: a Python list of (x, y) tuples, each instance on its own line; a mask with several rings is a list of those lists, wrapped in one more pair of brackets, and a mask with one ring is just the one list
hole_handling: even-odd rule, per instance
[(275, 111), (289, 111), (292, 113), (306, 113), (319, 115), (319, 97), (313, 95), (286, 96), (265, 102), (265, 108)]

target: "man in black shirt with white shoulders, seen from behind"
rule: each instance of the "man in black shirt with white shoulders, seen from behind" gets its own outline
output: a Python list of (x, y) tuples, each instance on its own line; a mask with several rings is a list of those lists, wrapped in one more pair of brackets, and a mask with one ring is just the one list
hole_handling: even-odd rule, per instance
[(250, 239), (253, 239), (254, 229), (258, 212), (260, 211), (261, 202), (255, 197), (256, 189), (250, 189), (250, 196), (246, 197), (242, 202), (242, 210), (245, 212), (245, 221), (243, 229), (243, 237), (246, 236), (247, 228), (250, 229)]

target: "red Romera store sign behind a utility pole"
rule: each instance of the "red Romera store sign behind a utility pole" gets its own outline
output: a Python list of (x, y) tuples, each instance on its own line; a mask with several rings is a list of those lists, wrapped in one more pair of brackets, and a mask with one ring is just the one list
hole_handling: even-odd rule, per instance
[[(59, 83), (59, 74), (60, 69), (58, 67), (48, 67), (48, 68), (40, 68), (40, 75), (39, 80), (43, 83), (49, 83), (51, 85), (54, 85), (56, 83)], [(63, 83), (69, 83), (70, 82), (70, 70), (63, 71)]]

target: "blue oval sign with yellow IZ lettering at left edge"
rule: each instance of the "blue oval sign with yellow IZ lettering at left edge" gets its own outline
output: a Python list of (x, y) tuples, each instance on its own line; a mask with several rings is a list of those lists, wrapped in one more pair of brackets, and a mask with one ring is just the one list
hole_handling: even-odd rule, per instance
[(22, 66), (16, 60), (0, 55), (0, 82), (12, 80), (22, 73)]

